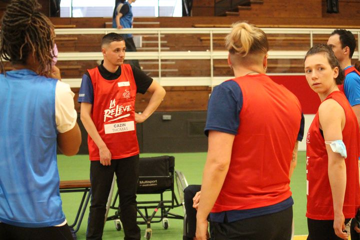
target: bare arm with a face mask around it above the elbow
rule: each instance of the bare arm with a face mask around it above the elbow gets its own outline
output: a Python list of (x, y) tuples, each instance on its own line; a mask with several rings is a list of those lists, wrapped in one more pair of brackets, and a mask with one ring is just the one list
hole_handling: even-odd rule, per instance
[[(342, 129), (345, 125), (345, 112), (343, 108), (333, 99), (323, 101), (319, 106), (319, 121), (323, 131), (325, 141), (342, 140)], [(342, 232), (345, 229), (344, 215), (342, 206), (346, 188), (346, 166), (344, 157), (337, 152), (333, 152), (331, 147), (326, 144), (328, 155), (328, 177), (330, 181), (335, 234), (347, 239), (347, 234)]]

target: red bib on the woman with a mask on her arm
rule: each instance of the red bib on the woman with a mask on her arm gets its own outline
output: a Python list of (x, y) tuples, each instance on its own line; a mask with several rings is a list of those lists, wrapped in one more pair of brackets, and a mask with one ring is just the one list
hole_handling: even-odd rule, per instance
[[(342, 130), (342, 141), (346, 146), (347, 158), (345, 158), (346, 189), (342, 212), (345, 218), (351, 218), (354, 217), (360, 205), (358, 123), (355, 113), (342, 92), (331, 92), (326, 97), (326, 99), (329, 98), (337, 101), (345, 112), (346, 123)], [(328, 155), (324, 138), (319, 130), (319, 116), (316, 112), (306, 136), (306, 216), (311, 219), (331, 220), (334, 217), (327, 165)]]

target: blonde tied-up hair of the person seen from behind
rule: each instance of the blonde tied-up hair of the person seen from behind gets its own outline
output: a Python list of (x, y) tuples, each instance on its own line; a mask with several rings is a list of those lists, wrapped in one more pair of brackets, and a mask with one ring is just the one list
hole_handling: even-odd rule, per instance
[(246, 22), (232, 24), (231, 32), (225, 37), (225, 47), (231, 54), (240, 57), (247, 54), (266, 54), (268, 51), (265, 32)]

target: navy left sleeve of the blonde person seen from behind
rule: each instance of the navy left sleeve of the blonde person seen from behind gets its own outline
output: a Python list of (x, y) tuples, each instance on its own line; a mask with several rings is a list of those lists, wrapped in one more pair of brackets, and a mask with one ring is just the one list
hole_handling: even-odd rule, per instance
[(207, 105), (205, 135), (209, 130), (237, 134), (242, 107), (240, 86), (232, 80), (214, 87)]

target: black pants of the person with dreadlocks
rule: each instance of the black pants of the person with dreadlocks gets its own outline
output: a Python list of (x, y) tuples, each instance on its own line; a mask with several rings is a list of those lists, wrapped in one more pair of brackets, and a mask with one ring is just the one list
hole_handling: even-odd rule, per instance
[(21, 227), (0, 222), (1, 240), (73, 240), (70, 228), (63, 226)]

